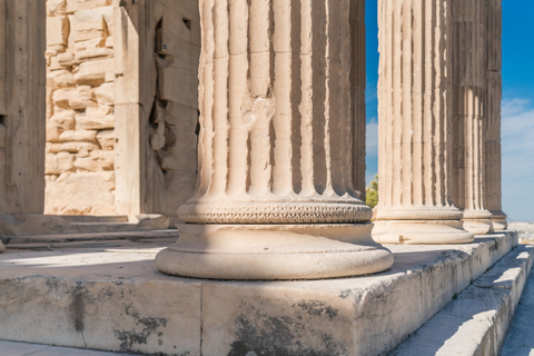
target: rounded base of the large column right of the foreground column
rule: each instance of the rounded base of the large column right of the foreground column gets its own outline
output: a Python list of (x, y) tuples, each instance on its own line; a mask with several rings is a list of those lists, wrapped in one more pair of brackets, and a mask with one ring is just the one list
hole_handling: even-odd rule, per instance
[(474, 238), (459, 220), (379, 220), (373, 229), (373, 239), (379, 244), (448, 245)]

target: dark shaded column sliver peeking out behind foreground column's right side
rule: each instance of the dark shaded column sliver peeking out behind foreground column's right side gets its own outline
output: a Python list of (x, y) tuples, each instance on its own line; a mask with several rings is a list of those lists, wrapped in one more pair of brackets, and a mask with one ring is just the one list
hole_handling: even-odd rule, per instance
[(350, 92), (354, 125), (353, 181), (359, 197), (365, 201), (365, 0), (350, 1), (352, 62)]

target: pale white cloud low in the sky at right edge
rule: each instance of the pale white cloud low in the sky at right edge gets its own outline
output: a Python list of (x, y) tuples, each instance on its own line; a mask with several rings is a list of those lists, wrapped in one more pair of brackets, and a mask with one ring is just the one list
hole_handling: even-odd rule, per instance
[(503, 208), (511, 219), (534, 220), (534, 106), (503, 100)]

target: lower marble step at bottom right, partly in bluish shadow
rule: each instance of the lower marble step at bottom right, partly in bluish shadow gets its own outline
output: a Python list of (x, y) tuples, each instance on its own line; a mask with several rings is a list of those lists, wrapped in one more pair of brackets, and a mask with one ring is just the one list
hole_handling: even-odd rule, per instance
[[(389, 355), (500, 355), (533, 256), (534, 246), (520, 245), (510, 251)], [(525, 293), (534, 291), (531, 288)], [(532, 294), (526, 298), (534, 300)], [(533, 317), (531, 310), (531, 333)]]

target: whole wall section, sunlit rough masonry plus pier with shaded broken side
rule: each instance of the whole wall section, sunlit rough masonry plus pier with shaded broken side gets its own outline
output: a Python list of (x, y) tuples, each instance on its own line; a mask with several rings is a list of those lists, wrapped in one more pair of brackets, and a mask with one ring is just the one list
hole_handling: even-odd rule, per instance
[(199, 52), (197, 1), (47, 0), (46, 214), (177, 215)]

